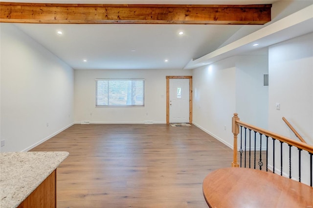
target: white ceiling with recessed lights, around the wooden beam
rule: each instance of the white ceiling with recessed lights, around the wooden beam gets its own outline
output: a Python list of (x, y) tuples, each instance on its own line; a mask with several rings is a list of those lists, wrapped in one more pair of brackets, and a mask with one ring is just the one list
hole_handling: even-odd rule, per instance
[[(3, 1), (3, 0), (2, 0)], [(9, 0), (4, 0), (9, 1)], [(276, 0), (19, 0), (53, 3), (265, 4)], [(15, 24), (73, 69), (183, 69), (260, 25)], [(57, 34), (62, 31), (63, 34)], [(183, 35), (179, 35), (183, 31)], [(132, 51), (135, 50), (135, 51)], [(87, 62), (83, 62), (86, 59)], [(168, 62), (164, 62), (168, 59)]]

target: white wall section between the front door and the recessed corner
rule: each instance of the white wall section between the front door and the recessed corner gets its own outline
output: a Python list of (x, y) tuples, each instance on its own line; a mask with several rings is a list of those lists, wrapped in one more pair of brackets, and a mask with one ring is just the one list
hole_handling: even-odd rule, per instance
[(230, 147), (235, 86), (235, 57), (193, 70), (193, 123)]

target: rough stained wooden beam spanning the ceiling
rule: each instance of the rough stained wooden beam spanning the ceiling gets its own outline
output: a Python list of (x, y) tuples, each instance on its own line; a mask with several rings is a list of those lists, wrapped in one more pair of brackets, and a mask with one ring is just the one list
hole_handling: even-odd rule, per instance
[(0, 2), (1, 23), (265, 24), (271, 4), (152, 5)]

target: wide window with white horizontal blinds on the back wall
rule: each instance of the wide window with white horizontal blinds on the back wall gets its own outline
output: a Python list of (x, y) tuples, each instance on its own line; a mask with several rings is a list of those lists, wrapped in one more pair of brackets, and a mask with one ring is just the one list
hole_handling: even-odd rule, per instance
[(96, 106), (144, 106), (144, 79), (97, 79)]

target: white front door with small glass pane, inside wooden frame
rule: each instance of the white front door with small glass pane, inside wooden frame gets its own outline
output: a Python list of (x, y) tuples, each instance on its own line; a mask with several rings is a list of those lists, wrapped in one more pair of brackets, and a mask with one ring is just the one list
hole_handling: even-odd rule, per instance
[(189, 123), (189, 79), (170, 79), (170, 123)]

